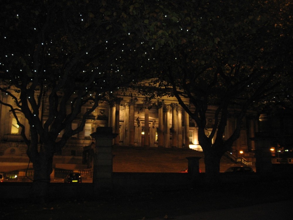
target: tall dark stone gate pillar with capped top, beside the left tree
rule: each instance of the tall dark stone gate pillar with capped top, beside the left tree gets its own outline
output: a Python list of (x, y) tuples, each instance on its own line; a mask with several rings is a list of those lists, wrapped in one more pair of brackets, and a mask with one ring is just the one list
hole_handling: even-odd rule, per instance
[(110, 127), (98, 127), (96, 132), (92, 133), (92, 138), (96, 139), (96, 148), (94, 149), (93, 166), (93, 184), (94, 192), (104, 191), (113, 188), (113, 155), (112, 140), (118, 134), (112, 133)]

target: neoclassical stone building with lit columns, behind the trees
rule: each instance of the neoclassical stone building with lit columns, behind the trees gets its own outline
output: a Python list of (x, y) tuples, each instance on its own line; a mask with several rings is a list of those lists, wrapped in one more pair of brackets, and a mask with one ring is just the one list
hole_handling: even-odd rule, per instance
[[(13, 100), (6, 94), (1, 94), (3, 102), (14, 105)], [(188, 103), (188, 100), (183, 100)], [(84, 106), (86, 111), (91, 104)], [(42, 121), (48, 115), (48, 102), (44, 99), (41, 106)], [(207, 112), (206, 135), (208, 136), (214, 124), (215, 107), (210, 106)], [(224, 139), (228, 137), (235, 126), (234, 112), (230, 111)], [(21, 112), (17, 113), (21, 122), (28, 126), (27, 120)], [(8, 107), (0, 104), (0, 156), (26, 156), (26, 146), (20, 136), (21, 128), (16, 124)], [(80, 123), (77, 118), (72, 123), (75, 128)], [(99, 126), (113, 128), (113, 133), (119, 135), (113, 140), (113, 145), (135, 147), (163, 147), (163, 148), (193, 148), (201, 151), (197, 140), (197, 126), (188, 114), (183, 111), (178, 101), (173, 97), (147, 100), (142, 96), (117, 95), (112, 103), (101, 103), (88, 118), (84, 131), (70, 138), (66, 146), (57, 153), (60, 160), (70, 157), (82, 157), (83, 148), (91, 145), (91, 133)], [(251, 113), (243, 120), (240, 138), (234, 143), (232, 153), (236, 156), (250, 158), (253, 155), (255, 131), (258, 118)], [(29, 132), (28, 130), (26, 132)], [(62, 136), (62, 132), (60, 133)], [(240, 151), (244, 153), (239, 155)]]

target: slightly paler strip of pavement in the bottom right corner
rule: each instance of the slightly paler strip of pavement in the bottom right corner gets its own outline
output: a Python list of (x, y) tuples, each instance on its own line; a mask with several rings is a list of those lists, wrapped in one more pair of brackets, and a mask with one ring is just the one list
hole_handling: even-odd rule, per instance
[(163, 216), (148, 220), (292, 220), (293, 199), (289, 201), (258, 204), (233, 209), (197, 212), (182, 216)]

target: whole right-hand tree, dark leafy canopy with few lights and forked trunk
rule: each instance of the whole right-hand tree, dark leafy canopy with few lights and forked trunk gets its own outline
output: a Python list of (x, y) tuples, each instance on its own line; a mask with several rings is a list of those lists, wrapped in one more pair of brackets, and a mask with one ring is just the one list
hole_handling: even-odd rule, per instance
[[(150, 84), (153, 90), (144, 94), (176, 96), (198, 126), (206, 174), (213, 181), (220, 158), (240, 136), (248, 109), (261, 111), (265, 104), (276, 101), (277, 94), (292, 95), (286, 83), (292, 79), (292, 2), (173, 4), (181, 10), (169, 19), (167, 14), (162, 25), (157, 23), (159, 30), (148, 29), (152, 40), (156, 33), (164, 33), (164, 38), (160, 53), (150, 53), (154, 62), (148, 71), (155, 80)], [(188, 98), (194, 109), (181, 97)], [(206, 113), (211, 105), (217, 109), (211, 134), (206, 136)], [(236, 127), (224, 140), (231, 109), (237, 111)]]

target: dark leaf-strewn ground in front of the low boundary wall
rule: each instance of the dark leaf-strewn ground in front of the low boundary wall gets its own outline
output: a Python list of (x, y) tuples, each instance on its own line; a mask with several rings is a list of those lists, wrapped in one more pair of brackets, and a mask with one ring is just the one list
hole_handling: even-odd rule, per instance
[(172, 216), (292, 200), (292, 187), (293, 180), (280, 180), (226, 183), (217, 189), (195, 186), (161, 192), (109, 192), (95, 199), (50, 199), (46, 204), (30, 199), (1, 201), (0, 219), (174, 219)]

